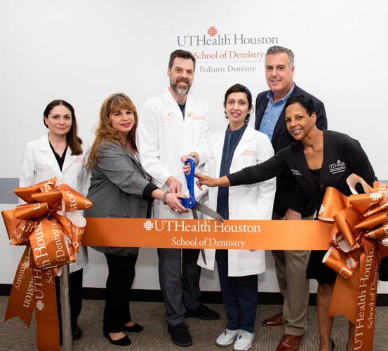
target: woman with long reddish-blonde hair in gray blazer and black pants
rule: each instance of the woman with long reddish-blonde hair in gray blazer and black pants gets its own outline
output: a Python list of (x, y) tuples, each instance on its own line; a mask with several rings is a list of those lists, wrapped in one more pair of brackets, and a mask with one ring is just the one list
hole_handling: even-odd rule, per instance
[[(102, 103), (88, 159), (92, 174), (88, 199), (93, 208), (86, 211), (86, 217), (149, 218), (154, 199), (163, 201), (173, 211), (187, 211), (180, 202), (181, 194), (163, 192), (149, 182), (142, 170), (135, 143), (137, 124), (138, 113), (127, 95), (113, 94)], [(114, 345), (129, 345), (131, 340), (124, 331), (143, 329), (132, 321), (129, 309), (138, 248), (95, 246), (93, 249), (105, 254), (109, 270), (104, 335)]]

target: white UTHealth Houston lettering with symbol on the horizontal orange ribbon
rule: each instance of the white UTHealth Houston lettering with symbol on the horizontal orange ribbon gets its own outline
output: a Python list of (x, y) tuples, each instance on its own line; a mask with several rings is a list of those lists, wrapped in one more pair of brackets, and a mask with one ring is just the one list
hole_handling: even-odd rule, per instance
[(215, 220), (197, 220), (187, 223), (185, 220), (145, 220), (143, 227), (147, 232), (221, 232), (221, 233), (260, 233), (260, 225), (225, 224)]

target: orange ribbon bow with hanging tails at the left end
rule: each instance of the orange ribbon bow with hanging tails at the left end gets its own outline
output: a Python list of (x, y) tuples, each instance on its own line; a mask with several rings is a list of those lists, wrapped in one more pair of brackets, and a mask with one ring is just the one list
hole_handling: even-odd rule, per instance
[(91, 208), (86, 197), (55, 178), (15, 189), (25, 205), (2, 211), (12, 245), (25, 245), (15, 274), (4, 321), (20, 317), (30, 326), (36, 314), (38, 350), (60, 350), (55, 274), (75, 262), (86, 220), (77, 210)]

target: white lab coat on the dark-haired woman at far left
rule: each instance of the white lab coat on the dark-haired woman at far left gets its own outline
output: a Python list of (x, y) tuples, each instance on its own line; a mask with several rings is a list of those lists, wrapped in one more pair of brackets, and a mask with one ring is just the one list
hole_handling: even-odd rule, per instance
[[(44, 180), (56, 177), (57, 184), (66, 183), (77, 192), (86, 196), (90, 185), (90, 173), (86, 171), (86, 161), (89, 147), (82, 144), (82, 154), (71, 154), (67, 147), (62, 172), (55, 159), (53, 150), (48, 143), (48, 134), (25, 145), (22, 156), (22, 171), (19, 186), (29, 187)], [(20, 199), (19, 204), (24, 202)], [(86, 246), (81, 246), (76, 253), (76, 262), (70, 264), (70, 272), (76, 272), (88, 263)]]

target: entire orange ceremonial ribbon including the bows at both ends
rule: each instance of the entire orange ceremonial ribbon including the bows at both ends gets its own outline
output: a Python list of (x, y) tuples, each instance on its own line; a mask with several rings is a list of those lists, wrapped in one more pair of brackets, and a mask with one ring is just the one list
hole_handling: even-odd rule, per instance
[[(13, 237), (12, 244), (27, 242), (32, 245), (31, 243), (34, 243), (30, 250), (26, 250), (20, 261), (8, 309), (11, 298), (17, 295), (20, 296), (12, 303), (15, 311), (18, 308), (24, 311), (27, 308), (23, 305), (26, 300), (29, 302), (26, 305), (30, 309), (35, 303), (32, 280), (35, 268), (27, 269), (31, 265), (31, 255), (34, 255), (38, 262), (34, 260), (32, 265), (39, 264), (46, 272), (51, 269), (50, 267), (59, 267), (67, 263), (65, 261), (72, 260), (74, 257), (71, 253), (72, 248), (76, 250), (81, 242), (88, 246), (175, 249), (327, 250), (331, 246), (324, 261), (338, 273), (338, 276), (330, 314), (345, 314), (356, 325), (355, 350), (372, 350), (378, 266), (381, 258), (388, 255), (388, 187), (382, 183), (376, 183), (375, 187), (371, 188), (355, 175), (349, 177), (348, 183), (353, 192), (355, 192), (355, 184), (362, 183), (367, 194), (346, 197), (334, 188), (328, 188), (319, 212), (319, 218), (326, 221), (225, 220), (225, 223), (220, 223), (215, 220), (194, 219), (87, 218), (86, 230), (81, 223), (76, 223), (77, 226), (75, 226), (68, 218), (55, 212), (57, 210), (54, 208), (60, 206), (61, 200), (53, 193), (55, 192), (53, 187), (50, 187), (51, 190), (48, 191), (50, 200), (42, 201), (43, 203), (46, 201), (46, 205), (42, 205), (41, 202), (33, 203), (32, 207), (36, 212), (34, 216), (19, 216), (18, 218), (22, 219), (18, 221), (14, 216), (15, 210), (3, 211), (8, 236)], [(64, 190), (62, 186), (64, 185), (58, 186), (61, 194), (63, 195), (65, 191), (68, 197), (67, 200), (62, 200), (62, 209), (68, 208), (72, 211), (72, 208), (79, 210), (91, 207), (88, 199), (82, 197), (83, 207), (81, 208), (82, 201), (79, 201), (81, 198), (72, 196), (74, 190)], [(43, 184), (43, 188), (45, 187), (46, 182)], [(42, 185), (38, 185), (38, 188), (41, 189)], [(33, 198), (32, 192), (35, 193), (34, 187), (29, 187), (27, 195), (23, 193), (24, 197), (19, 196), (27, 202), (36, 201), (36, 196)], [(44, 191), (41, 192), (44, 193)], [(36, 190), (36, 193), (39, 191)], [(47, 210), (46, 212), (42, 210), (45, 206), (49, 208), (49, 214), (43, 214), (47, 213)], [(25, 209), (21, 208), (19, 211), (25, 211)], [(67, 217), (71, 214), (69, 213)], [(46, 222), (47, 217), (51, 220), (51, 222), (49, 220), (51, 224)], [(57, 222), (60, 225), (57, 225)], [(67, 258), (65, 253), (62, 253), (65, 250), (58, 250), (58, 245), (62, 247), (62, 241), (58, 240), (55, 243), (57, 250), (48, 254), (53, 258), (55, 252), (59, 252), (59, 259), (55, 263), (55, 260), (51, 261), (47, 258), (46, 251), (42, 249), (43, 246), (39, 246), (39, 243), (41, 244), (40, 240), (45, 237), (45, 232), (51, 232), (51, 236), (57, 237), (57, 231), (59, 233), (61, 230), (65, 232), (65, 237), (69, 238), (70, 253)], [(35, 235), (33, 240), (32, 234)], [(48, 246), (45, 245), (45, 247)], [(65, 261), (63, 257), (66, 257)], [(20, 289), (22, 281), (25, 287)], [(6, 319), (18, 315), (24, 320), (22, 317), (25, 315), (24, 312), (11, 315), (8, 309)], [(30, 313), (32, 312), (26, 315), (30, 316)], [(29, 326), (29, 322), (27, 325)], [(58, 325), (58, 317), (55, 325)], [(39, 331), (37, 333), (39, 335)], [(56, 333), (58, 335), (58, 326)], [(46, 338), (47, 336), (48, 333)], [(39, 350), (47, 350), (47, 347), (39, 347)], [(51, 350), (57, 349), (51, 348)]]

